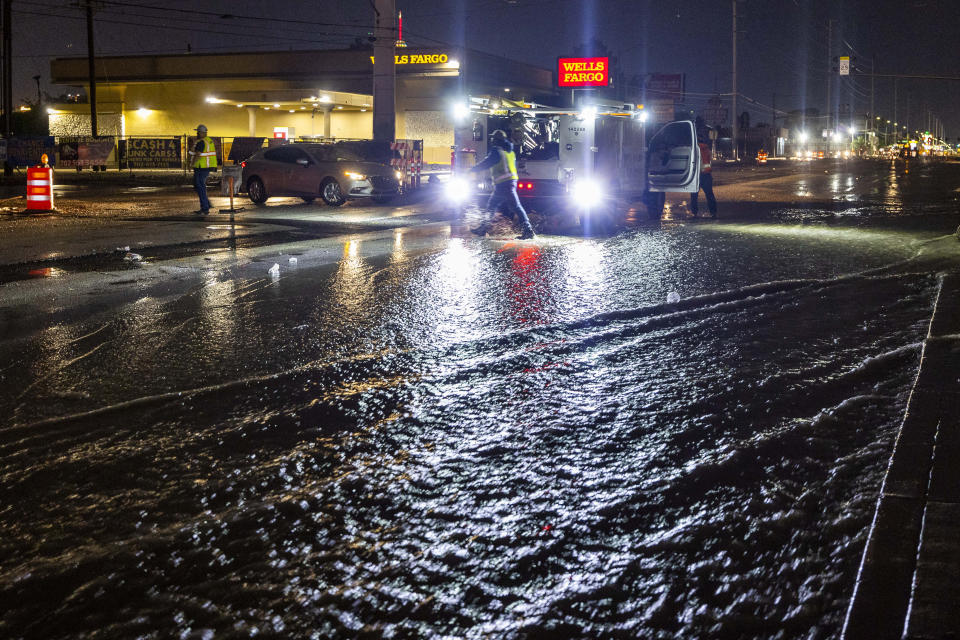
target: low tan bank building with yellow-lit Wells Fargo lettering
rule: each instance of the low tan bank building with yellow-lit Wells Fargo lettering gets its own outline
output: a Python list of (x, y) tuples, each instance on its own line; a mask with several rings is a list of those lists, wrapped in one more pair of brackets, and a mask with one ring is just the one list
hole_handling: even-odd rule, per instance
[[(470, 50), (398, 49), (397, 138), (422, 139), (426, 162), (446, 163), (450, 106), (465, 95), (552, 102), (553, 73)], [(368, 139), (373, 134), (369, 50), (278, 51), (96, 60), (100, 135), (211, 135)], [(88, 85), (86, 58), (51, 63), (54, 84)], [(50, 133), (90, 134), (87, 104), (50, 110)]]

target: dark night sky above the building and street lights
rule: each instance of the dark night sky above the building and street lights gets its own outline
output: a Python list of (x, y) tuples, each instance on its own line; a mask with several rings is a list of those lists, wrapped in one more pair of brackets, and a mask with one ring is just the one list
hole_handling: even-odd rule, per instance
[[(33, 76), (51, 94), (51, 57), (86, 55), (76, 0), (14, 0), (14, 102), (36, 99)], [(100, 0), (98, 54), (344, 48), (366, 38), (369, 0)], [(780, 110), (823, 109), (828, 41), (869, 73), (960, 76), (957, 0), (741, 0), (738, 2), (738, 110), (769, 122)], [(686, 73), (687, 104), (703, 107), (731, 87), (730, 0), (397, 0), (411, 46), (444, 43), (553, 68), (558, 56), (598, 38), (624, 71)], [(832, 22), (832, 39), (828, 24)], [(948, 137), (960, 135), (960, 81), (878, 78), (875, 112), (910, 129), (928, 113)], [(870, 79), (836, 78), (836, 104), (870, 109)], [(896, 108), (896, 113), (894, 109)]]

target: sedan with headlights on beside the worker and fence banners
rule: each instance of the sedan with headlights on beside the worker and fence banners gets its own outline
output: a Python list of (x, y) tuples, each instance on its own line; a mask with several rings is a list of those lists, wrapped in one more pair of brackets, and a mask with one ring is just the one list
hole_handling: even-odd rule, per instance
[(256, 204), (274, 196), (296, 196), (305, 202), (320, 197), (334, 207), (353, 198), (371, 198), (382, 204), (400, 190), (400, 174), (392, 167), (365, 161), (332, 144), (270, 147), (241, 164), (241, 185)]

